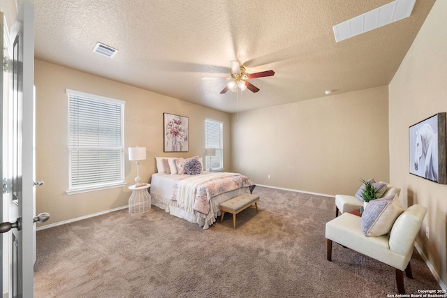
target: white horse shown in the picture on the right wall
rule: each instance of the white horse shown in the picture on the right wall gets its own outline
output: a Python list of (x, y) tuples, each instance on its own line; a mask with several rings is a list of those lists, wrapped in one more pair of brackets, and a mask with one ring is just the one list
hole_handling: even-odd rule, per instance
[(416, 128), (416, 151), (414, 153), (416, 171), (422, 156), (425, 157), (425, 178), (438, 181), (438, 133), (435, 133), (429, 124)]

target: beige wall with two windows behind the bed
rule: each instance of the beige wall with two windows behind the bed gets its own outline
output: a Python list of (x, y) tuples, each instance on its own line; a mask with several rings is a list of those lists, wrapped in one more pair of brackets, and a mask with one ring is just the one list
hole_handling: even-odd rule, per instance
[[(36, 190), (36, 212), (49, 212), (47, 224), (126, 206), (127, 187), (66, 195), (68, 190), (68, 99), (65, 89), (126, 101), (124, 147), (147, 148), (140, 177), (156, 172), (154, 156), (203, 156), (205, 118), (223, 122), (224, 167), (230, 170), (230, 116), (183, 100), (162, 96), (126, 84), (36, 60), (36, 178), (45, 181)], [(189, 152), (163, 153), (163, 112), (189, 117)], [(134, 184), (136, 166), (125, 155), (125, 175)], [(40, 226), (40, 225), (39, 225)]]

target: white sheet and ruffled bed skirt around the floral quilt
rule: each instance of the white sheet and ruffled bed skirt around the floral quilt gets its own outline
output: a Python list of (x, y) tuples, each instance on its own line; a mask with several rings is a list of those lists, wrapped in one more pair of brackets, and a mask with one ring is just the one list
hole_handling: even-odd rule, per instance
[(210, 211), (208, 214), (203, 214), (191, 208), (185, 208), (183, 202), (179, 204), (179, 202), (171, 200), (173, 197), (173, 188), (178, 182), (178, 179), (186, 179), (189, 177), (191, 176), (166, 173), (152, 174), (150, 188), (152, 204), (164, 209), (173, 216), (184, 218), (190, 223), (197, 223), (203, 226), (204, 229), (210, 228), (210, 225), (216, 221), (217, 216), (221, 215), (221, 211), (219, 210), (219, 204), (221, 202), (235, 198), (237, 195), (242, 195), (242, 193), (250, 192), (249, 187), (245, 187), (214, 196), (210, 200)]

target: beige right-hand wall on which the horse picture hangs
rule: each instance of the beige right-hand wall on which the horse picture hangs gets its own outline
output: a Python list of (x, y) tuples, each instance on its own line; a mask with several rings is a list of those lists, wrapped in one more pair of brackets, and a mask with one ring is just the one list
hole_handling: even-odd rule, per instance
[[(390, 180), (428, 208), (418, 246), (447, 285), (447, 186), (409, 174), (409, 126), (447, 112), (447, 1), (436, 1), (390, 83)], [(430, 239), (425, 237), (425, 226)]]

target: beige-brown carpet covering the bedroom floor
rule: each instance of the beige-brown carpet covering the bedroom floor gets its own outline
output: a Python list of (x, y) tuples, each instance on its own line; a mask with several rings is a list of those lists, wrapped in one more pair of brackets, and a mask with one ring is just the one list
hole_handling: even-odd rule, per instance
[[(251, 207), (203, 230), (126, 209), (37, 232), (35, 297), (387, 297), (395, 270), (334, 244), (334, 198), (256, 187)], [(407, 293), (439, 289), (418, 253)]]

